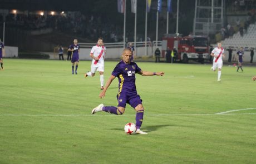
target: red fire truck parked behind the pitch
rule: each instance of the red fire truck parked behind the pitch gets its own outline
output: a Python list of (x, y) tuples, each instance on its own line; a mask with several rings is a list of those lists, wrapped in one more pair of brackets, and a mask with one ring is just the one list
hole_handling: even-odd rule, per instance
[(209, 42), (205, 36), (176, 37), (167, 34), (163, 37), (162, 54), (165, 54), (168, 47), (171, 50), (178, 47), (176, 60), (183, 63), (188, 63), (189, 60), (204, 63), (205, 60), (210, 59)]

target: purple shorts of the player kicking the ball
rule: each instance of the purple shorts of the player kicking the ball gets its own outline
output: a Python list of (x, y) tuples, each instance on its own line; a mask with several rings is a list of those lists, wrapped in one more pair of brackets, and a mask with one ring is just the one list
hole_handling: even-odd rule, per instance
[(140, 95), (130, 95), (129, 93), (121, 92), (116, 98), (118, 101), (117, 107), (125, 108), (126, 103), (128, 103), (131, 107), (135, 108), (137, 105), (142, 104)]

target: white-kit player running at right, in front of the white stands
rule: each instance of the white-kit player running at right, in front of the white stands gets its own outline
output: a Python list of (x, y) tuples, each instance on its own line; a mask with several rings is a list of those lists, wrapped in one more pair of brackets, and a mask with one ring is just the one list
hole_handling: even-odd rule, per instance
[(224, 48), (221, 47), (221, 42), (218, 42), (218, 47), (215, 47), (213, 51), (211, 51), (211, 56), (213, 56), (213, 67), (211, 69), (213, 71), (216, 71), (216, 68), (218, 67), (218, 81), (221, 81), (221, 68), (223, 66), (222, 58), (225, 57), (224, 54)]

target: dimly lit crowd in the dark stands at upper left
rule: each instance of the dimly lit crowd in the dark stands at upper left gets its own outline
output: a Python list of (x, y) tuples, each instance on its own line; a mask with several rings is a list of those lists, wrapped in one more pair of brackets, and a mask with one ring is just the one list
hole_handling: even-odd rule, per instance
[[(6, 16), (6, 26), (19, 27), (25, 30), (35, 30), (42, 28), (53, 28), (74, 36), (80, 36), (88, 39), (104, 37), (105, 42), (122, 42), (123, 27), (115, 25), (110, 18), (104, 16), (85, 16), (79, 12), (75, 16), (41, 16), (25, 14), (8, 14)], [(3, 22), (3, 16), (0, 14), (0, 22)], [(127, 38), (133, 38), (132, 32), (126, 33)]]

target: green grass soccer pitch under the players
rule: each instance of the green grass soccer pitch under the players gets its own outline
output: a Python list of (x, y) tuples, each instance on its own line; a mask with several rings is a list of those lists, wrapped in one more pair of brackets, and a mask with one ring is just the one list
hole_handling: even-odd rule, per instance
[[(105, 63), (105, 82), (116, 64)], [(129, 105), (122, 116), (91, 115), (100, 103), (116, 106), (118, 91), (115, 79), (99, 98), (99, 73), (83, 77), (91, 62), (72, 75), (67, 61), (4, 59), (0, 163), (256, 163), (255, 67), (224, 66), (217, 82), (209, 64), (137, 64), (165, 72), (136, 76), (148, 135), (124, 133), (135, 123)]]

